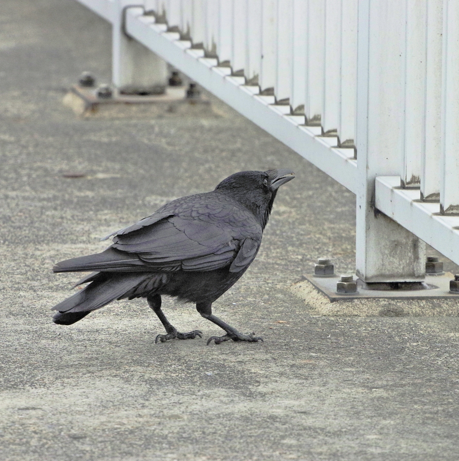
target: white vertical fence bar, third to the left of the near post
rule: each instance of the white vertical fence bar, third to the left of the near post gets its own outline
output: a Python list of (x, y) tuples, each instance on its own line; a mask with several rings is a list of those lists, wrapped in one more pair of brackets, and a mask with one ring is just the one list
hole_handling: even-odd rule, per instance
[(305, 115), (308, 125), (320, 126), (324, 106), (325, 3), (308, 0)]

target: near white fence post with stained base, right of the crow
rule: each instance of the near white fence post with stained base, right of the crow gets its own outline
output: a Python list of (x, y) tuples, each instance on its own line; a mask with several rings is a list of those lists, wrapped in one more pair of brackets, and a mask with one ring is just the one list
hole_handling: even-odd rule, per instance
[(425, 277), (425, 243), (379, 212), (376, 176), (398, 176), (405, 151), (406, 7), (359, 0), (356, 273), (365, 282)]

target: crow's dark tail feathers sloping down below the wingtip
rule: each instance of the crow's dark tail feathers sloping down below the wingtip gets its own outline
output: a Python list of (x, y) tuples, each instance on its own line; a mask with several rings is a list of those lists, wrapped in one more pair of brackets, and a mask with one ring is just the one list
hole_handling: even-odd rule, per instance
[[(94, 280), (70, 298), (60, 302), (51, 310), (65, 313), (65, 316), (56, 315), (55, 323), (70, 325), (92, 310), (100, 309), (115, 299), (120, 299), (127, 291), (142, 283), (145, 274), (103, 274), (95, 276)], [(75, 314), (70, 316), (68, 314)], [(77, 314), (77, 315), (76, 315)], [(64, 322), (70, 323), (64, 323)]]

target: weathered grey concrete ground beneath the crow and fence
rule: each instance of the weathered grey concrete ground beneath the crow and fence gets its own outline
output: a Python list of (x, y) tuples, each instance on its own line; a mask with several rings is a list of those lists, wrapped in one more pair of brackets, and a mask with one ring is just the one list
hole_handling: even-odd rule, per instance
[[(458, 459), (459, 309), (325, 316), (291, 289), (323, 255), (353, 269), (353, 195), (218, 102), (214, 114), (78, 118), (62, 97), (84, 70), (109, 80), (108, 24), (72, 0), (2, 1), (0, 459)], [(143, 300), (51, 322), (78, 278), (53, 263), (98, 252), (99, 237), (166, 201), (271, 167), (297, 178), (259, 256), (214, 304), (264, 343), (206, 346), (218, 328), (171, 301), (172, 323), (203, 339), (155, 345), (163, 330)]]

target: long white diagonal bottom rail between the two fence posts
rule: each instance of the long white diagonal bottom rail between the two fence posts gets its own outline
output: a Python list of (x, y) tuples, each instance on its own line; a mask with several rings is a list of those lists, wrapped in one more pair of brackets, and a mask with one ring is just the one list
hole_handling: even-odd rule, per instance
[(326, 141), (328, 138), (316, 137), (309, 127), (299, 124), (302, 117), (285, 116), (277, 109), (278, 106), (269, 106), (265, 97), (254, 94), (254, 87), (241, 85), (243, 78), (228, 76), (227, 68), (208, 67), (199, 58), (197, 52), (200, 50), (183, 50), (183, 42), (170, 40), (166, 34), (143, 23), (137, 16), (137, 10), (128, 12), (126, 28), (144, 46), (163, 58), (167, 57), (177, 69), (199, 81), (229, 106), (355, 192), (357, 163), (350, 149), (330, 148)]

